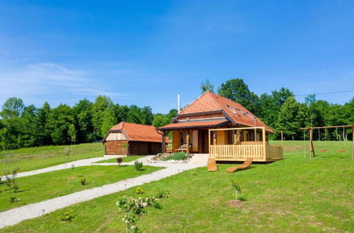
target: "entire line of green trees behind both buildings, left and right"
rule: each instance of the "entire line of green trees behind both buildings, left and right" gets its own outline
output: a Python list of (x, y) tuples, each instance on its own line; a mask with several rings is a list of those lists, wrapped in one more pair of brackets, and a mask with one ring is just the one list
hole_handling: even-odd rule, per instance
[[(214, 85), (206, 80), (202, 92), (215, 92)], [(273, 129), (284, 132), (287, 140), (302, 140), (301, 127), (335, 126), (354, 124), (354, 97), (346, 104), (331, 104), (309, 95), (300, 103), (287, 88), (256, 95), (240, 78), (227, 80), (217, 88), (217, 93), (239, 102)], [(109, 97), (98, 96), (94, 102), (80, 100), (73, 107), (59, 104), (52, 108), (45, 102), (37, 108), (25, 106), (23, 100), (10, 97), (0, 112), (0, 148), (2, 150), (41, 145), (67, 145), (100, 141), (105, 133), (120, 121), (148, 124), (155, 127), (169, 124), (176, 117), (177, 109), (168, 114), (153, 114), (149, 106), (120, 105)], [(321, 138), (329, 140), (351, 139), (350, 129), (320, 131)], [(314, 134), (316, 139), (319, 135)], [(273, 139), (280, 139), (275, 132)]]

